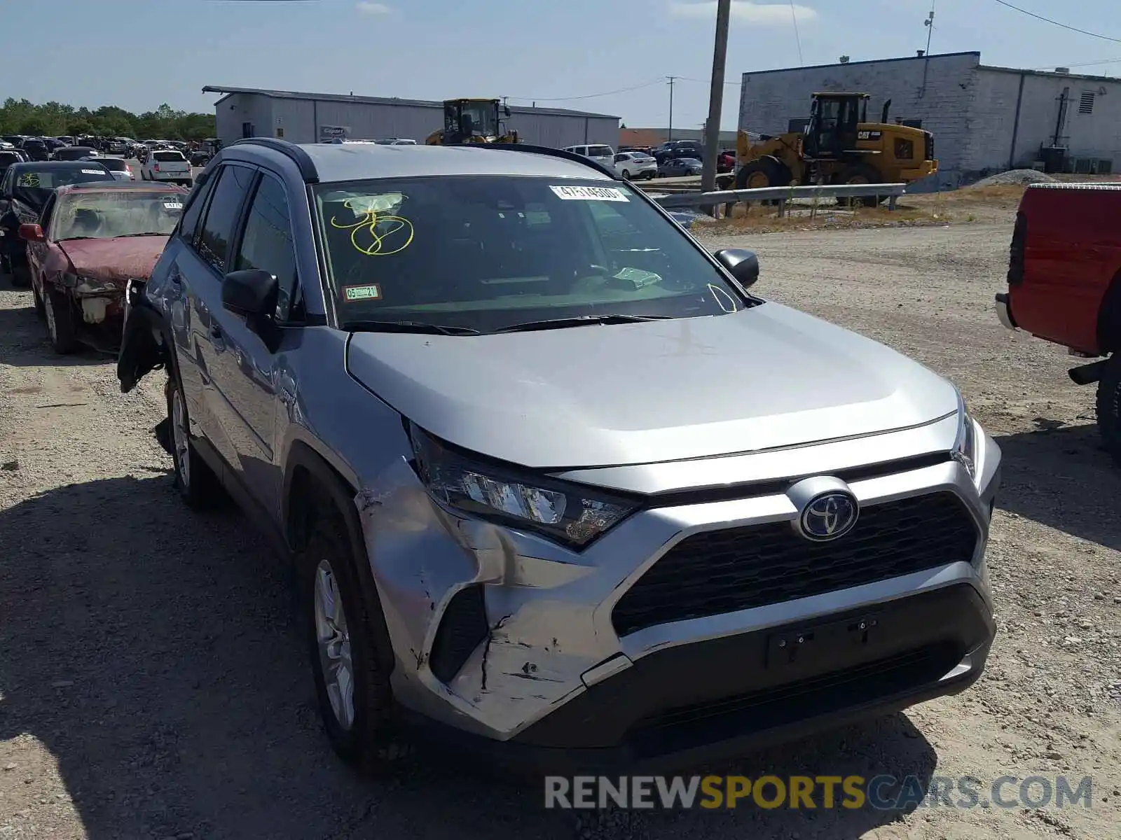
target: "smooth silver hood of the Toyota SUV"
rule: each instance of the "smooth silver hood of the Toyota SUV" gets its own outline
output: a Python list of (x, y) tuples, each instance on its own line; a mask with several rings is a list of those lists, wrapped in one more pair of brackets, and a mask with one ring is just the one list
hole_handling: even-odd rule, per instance
[(482, 336), (355, 333), (351, 375), (428, 432), (527, 467), (703, 458), (945, 417), (956, 389), (778, 304)]

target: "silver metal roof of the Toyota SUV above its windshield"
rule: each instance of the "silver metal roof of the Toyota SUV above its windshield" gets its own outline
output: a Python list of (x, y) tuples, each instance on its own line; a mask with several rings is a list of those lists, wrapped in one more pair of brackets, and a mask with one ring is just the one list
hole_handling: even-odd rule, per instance
[[(509, 175), (609, 180), (591, 166), (549, 155), (484, 146), (378, 146), (376, 143), (298, 143), (311, 157), (319, 184), (367, 178), (415, 178), (452, 175)], [(270, 146), (238, 142), (222, 150), (225, 159), (280, 158)]]

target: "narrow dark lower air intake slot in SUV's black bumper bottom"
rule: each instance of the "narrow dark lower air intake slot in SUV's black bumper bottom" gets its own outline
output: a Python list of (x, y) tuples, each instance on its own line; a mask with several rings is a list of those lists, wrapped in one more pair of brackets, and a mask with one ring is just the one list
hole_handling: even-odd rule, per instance
[(797, 682), (668, 709), (636, 725), (628, 740), (650, 752), (671, 752), (676, 741), (695, 746), (841, 712), (929, 685), (964, 654), (960, 644), (939, 642)]

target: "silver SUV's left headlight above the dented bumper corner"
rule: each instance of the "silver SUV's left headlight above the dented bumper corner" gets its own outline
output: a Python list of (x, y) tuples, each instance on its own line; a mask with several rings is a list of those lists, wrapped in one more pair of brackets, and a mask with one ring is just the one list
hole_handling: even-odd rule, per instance
[(416, 470), (439, 503), (480, 519), (581, 549), (618, 525), (636, 505), (599, 489), (485, 464), (411, 427)]

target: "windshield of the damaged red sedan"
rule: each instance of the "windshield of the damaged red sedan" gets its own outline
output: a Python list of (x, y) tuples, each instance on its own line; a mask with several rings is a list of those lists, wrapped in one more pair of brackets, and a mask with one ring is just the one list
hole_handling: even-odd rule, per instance
[(172, 190), (113, 190), (59, 196), (53, 239), (112, 239), (170, 235), (186, 194)]

